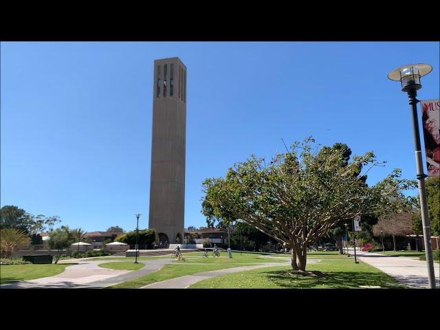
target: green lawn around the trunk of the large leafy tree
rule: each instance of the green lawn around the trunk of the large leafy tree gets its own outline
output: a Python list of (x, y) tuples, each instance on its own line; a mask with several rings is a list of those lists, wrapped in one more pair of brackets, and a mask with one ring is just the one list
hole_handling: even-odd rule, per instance
[[(322, 252), (317, 252), (322, 253)], [(336, 252), (337, 254), (338, 252)], [(338, 257), (338, 256), (336, 256)], [(210, 278), (191, 285), (190, 288), (218, 289), (300, 289), (300, 288), (360, 288), (380, 286), (404, 287), (391, 276), (362, 261), (340, 256), (320, 263), (307, 265), (307, 271), (318, 271), (320, 277), (294, 274), (291, 267), (270, 267)]]

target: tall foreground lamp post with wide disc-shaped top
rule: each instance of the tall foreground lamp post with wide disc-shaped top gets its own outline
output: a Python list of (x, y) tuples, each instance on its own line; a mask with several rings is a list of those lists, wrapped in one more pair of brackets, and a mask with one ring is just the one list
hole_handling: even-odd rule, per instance
[(432, 71), (432, 67), (428, 64), (409, 64), (403, 67), (398, 67), (388, 74), (388, 78), (395, 81), (400, 81), (401, 91), (408, 94), (410, 110), (412, 113), (412, 132), (414, 135), (415, 145), (415, 164), (417, 168), (417, 181), (419, 184), (420, 210), (421, 222), (423, 225), (423, 241), (425, 243), (426, 263), (428, 266), (428, 281), (429, 287), (435, 289), (434, 277), (434, 261), (432, 259), (431, 247), (431, 230), (428, 219), (428, 206), (426, 203), (426, 189), (425, 178), (427, 175), (423, 173), (423, 162), (421, 159), (420, 146), (420, 132), (419, 132), (419, 118), (417, 115), (417, 90), (421, 89), (421, 77), (426, 76)]

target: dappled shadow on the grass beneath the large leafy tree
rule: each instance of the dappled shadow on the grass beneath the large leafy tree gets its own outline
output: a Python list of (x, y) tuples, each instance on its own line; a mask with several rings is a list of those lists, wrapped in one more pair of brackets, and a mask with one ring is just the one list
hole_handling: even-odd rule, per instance
[(368, 272), (318, 272), (314, 276), (308, 273), (297, 273), (292, 270), (278, 270), (266, 272), (267, 278), (279, 287), (299, 288), (359, 288), (360, 285), (380, 286), (382, 288), (401, 287), (393, 280), (386, 278), (384, 274)]

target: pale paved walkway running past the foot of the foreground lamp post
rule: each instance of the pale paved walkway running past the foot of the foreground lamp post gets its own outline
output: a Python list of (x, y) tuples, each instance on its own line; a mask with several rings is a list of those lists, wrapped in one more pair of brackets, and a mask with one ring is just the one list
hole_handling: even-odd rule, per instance
[[(350, 255), (354, 254), (353, 248), (349, 251)], [(393, 276), (397, 281), (408, 285), (408, 287), (422, 289), (429, 288), (428, 283), (428, 267), (426, 261), (407, 258), (404, 256), (384, 256), (384, 254), (360, 252), (356, 250), (359, 259), (368, 263), (382, 272)], [(437, 288), (440, 287), (440, 265), (434, 263), (434, 274)]]

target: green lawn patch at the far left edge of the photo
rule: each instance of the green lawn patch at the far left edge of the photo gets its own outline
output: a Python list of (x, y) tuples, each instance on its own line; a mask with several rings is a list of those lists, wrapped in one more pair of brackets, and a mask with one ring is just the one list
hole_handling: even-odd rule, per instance
[(74, 265), (65, 263), (63, 265), (35, 264), (35, 265), (8, 265), (0, 266), (0, 284), (7, 284), (17, 281), (34, 280), (35, 278), (54, 276), (64, 272), (65, 267)]

